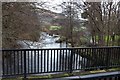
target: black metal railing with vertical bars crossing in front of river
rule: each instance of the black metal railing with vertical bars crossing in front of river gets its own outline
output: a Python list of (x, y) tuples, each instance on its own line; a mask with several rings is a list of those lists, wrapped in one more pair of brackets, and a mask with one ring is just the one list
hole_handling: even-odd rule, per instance
[(120, 66), (120, 47), (2, 50), (3, 77)]

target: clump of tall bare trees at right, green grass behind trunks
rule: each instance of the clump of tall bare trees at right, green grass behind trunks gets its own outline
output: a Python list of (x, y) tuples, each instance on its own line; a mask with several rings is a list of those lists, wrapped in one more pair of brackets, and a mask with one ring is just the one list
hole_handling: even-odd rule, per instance
[(117, 45), (115, 36), (117, 36), (116, 30), (119, 23), (118, 2), (84, 2), (84, 5), (93, 44)]

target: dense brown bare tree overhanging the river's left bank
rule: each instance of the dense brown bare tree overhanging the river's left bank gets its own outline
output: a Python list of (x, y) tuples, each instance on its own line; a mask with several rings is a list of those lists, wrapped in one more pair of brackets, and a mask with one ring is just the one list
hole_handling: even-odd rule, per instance
[(40, 21), (36, 3), (4, 2), (3, 48), (19, 48), (17, 40), (39, 40)]

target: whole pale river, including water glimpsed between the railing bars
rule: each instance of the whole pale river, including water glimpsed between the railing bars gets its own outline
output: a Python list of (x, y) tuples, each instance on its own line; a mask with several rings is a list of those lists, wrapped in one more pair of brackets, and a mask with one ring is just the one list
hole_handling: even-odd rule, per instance
[[(65, 42), (63, 42), (63, 43), (56, 43), (56, 40), (58, 40), (60, 37), (59, 37), (59, 35), (53, 35), (53, 36), (51, 36), (51, 35), (49, 35), (49, 34), (47, 34), (47, 33), (45, 33), (45, 32), (42, 32), (41, 33), (41, 37), (40, 37), (40, 39), (39, 39), (39, 41), (38, 42), (32, 42), (32, 41), (27, 41), (27, 40), (24, 40), (24, 41), (19, 41), (18, 43), (19, 44), (21, 44), (22, 45), (22, 48), (25, 48), (25, 49), (47, 49), (47, 48), (65, 48), (66, 47), (66, 44), (65, 44)], [(49, 64), (49, 66), (48, 67), (51, 67), (51, 65), (52, 66), (54, 66), (54, 65), (56, 65), (56, 64), (60, 64), (59, 62), (60, 62), (60, 60), (58, 60), (58, 63), (57, 62), (55, 62), (55, 64), (53, 65), (53, 64), (50, 64), (51, 62), (51, 60), (52, 60), (52, 63), (54, 63), (54, 60), (53, 59), (57, 59), (57, 55), (55, 55), (55, 56), (52, 56), (51, 57), (51, 55), (53, 55), (53, 54), (51, 54), (51, 53), (54, 53), (54, 52), (49, 52), (49, 54), (47, 54), (46, 53), (46, 55), (42, 55), (43, 57), (45, 56), (46, 58), (47, 58), (47, 56), (49, 55), (49, 62), (48, 62), (48, 64)], [(56, 53), (56, 51), (55, 51), (55, 53)], [(64, 56), (66, 55), (67, 53), (65, 53), (64, 54)], [(70, 52), (69, 52), (69, 54), (70, 54)], [(59, 53), (59, 55), (60, 55), (60, 53)], [(58, 57), (59, 57), (59, 55), (58, 55)], [(32, 54), (32, 56), (38, 56), (38, 54)], [(41, 56), (41, 55), (39, 55), (39, 56)], [(29, 55), (29, 56), (27, 56), (27, 58), (29, 57), (29, 59), (31, 58), (31, 55)], [(70, 57), (70, 55), (67, 55), (67, 57)], [(77, 69), (80, 69), (81, 68), (81, 65), (79, 64), (80, 63), (80, 61), (81, 61), (81, 59), (82, 59), (82, 57), (81, 56), (79, 56), (79, 55), (77, 55), (77, 54), (75, 54), (75, 63), (74, 63), (74, 67), (77, 67)], [(29, 61), (31, 61), (31, 60), (29, 60)], [(37, 61), (37, 58), (36, 58), (36, 61)], [(42, 60), (42, 61), (44, 61), (44, 59)], [(47, 60), (46, 60), (47, 61)], [(37, 63), (37, 62), (36, 62)], [(34, 61), (33, 61), (33, 64), (34, 64)], [(47, 62), (45, 62), (45, 63), (42, 63), (42, 65), (47, 65)], [(78, 64), (78, 65), (77, 65)], [(65, 66), (66, 64), (62, 64), (63, 66)], [(67, 66), (69, 66), (69, 64), (67, 63)], [(31, 64), (29, 64), (29, 67), (31, 67)], [(42, 67), (39, 67), (39, 70), (41, 70), (41, 68), (44, 70), (44, 69), (47, 69), (47, 67), (46, 66), (42, 66)], [(54, 67), (52, 67), (52, 70), (53, 70), (53, 68)], [(57, 66), (55, 66), (55, 68), (57, 68)], [(58, 66), (58, 68), (59, 68), (59, 66)], [(30, 68), (31, 69), (31, 68)], [(29, 70), (30, 70), (29, 69)], [(56, 69), (55, 69), (56, 70)], [(49, 70), (48, 71), (50, 71), (50, 68), (49, 68)]]

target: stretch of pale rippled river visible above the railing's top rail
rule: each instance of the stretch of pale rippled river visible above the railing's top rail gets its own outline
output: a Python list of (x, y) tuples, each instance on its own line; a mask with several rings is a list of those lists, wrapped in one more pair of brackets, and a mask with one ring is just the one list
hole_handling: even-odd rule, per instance
[(25, 49), (43, 49), (43, 48), (65, 48), (66, 44), (56, 43), (60, 37), (59, 35), (50, 36), (49, 34), (42, 32), (40, 34), (40, 39), (38, 42), (32, 42), (28, 40), (19, 41), (18, 43), (22, 45), (22, 48)]

